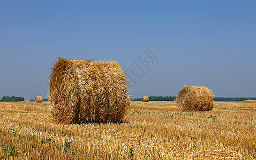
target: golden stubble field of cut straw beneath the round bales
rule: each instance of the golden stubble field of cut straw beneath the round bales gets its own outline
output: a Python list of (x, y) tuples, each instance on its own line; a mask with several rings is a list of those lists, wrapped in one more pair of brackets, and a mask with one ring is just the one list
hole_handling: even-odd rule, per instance
[[(256, 159), (256, 102), (133, 101), (116, 124), (52, 124), (46, 102), (0, 102), (0, 159)], [(4, 150), (2, 150), (4, 149)]]

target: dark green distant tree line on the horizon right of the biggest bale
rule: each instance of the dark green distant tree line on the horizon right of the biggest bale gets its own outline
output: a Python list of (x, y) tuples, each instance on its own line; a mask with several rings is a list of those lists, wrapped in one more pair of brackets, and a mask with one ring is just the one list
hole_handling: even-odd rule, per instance
[[(175, 96), (149, 96), (149, 101), (174, 101)], [(255, 97), (238, 97), (238, 98), (224, 98), (224, 97), (214, 97), (214, 101), (244, 101), (247, 99), (256, 100)], [(141, 101), (141, 98), (132, 98), (134, 101)]]

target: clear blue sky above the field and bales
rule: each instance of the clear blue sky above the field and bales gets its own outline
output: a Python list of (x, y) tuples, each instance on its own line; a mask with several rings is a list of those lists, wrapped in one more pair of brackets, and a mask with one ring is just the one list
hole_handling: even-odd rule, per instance
[[(146, 69), (147, 49), (159, 61)], [(0, 1), (0, 99), (47, 95), (56, 57), (136, 62), (133, 98), (205, 85), (256, 97), (256, 1)]]

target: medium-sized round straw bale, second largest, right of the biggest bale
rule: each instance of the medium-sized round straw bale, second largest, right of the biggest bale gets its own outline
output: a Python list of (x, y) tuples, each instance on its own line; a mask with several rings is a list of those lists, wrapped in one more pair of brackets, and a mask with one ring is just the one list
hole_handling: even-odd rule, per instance
[(213, 92), (206, 86), (185, 85), (175, 98), (182, 111), (207, 111), (213, 109)]

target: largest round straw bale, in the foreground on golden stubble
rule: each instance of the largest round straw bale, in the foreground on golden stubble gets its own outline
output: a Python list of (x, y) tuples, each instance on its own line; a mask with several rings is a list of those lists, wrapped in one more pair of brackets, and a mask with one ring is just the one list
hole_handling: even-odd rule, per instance
[(48, 101), (53, 122), (122, 121), (128, 87), (117, 61), (58, 58), (48, 78)]

